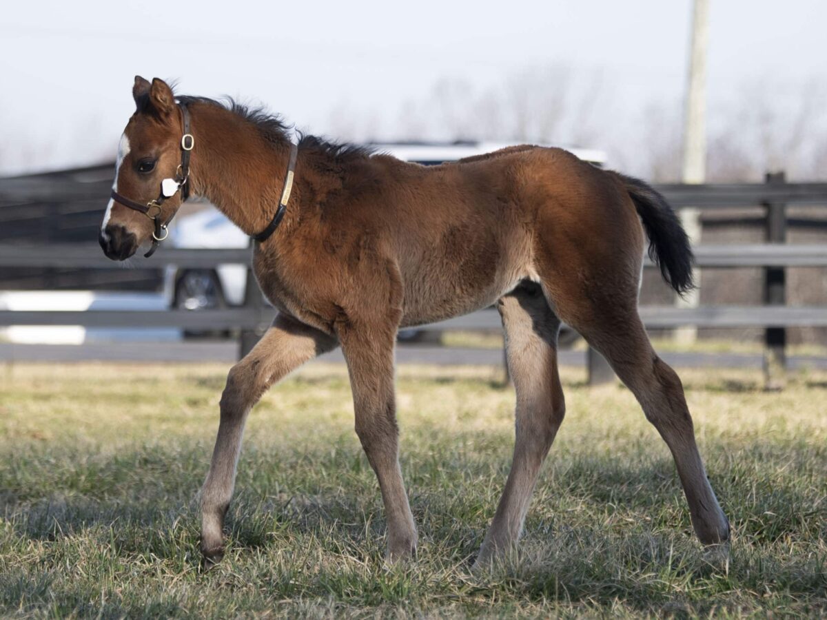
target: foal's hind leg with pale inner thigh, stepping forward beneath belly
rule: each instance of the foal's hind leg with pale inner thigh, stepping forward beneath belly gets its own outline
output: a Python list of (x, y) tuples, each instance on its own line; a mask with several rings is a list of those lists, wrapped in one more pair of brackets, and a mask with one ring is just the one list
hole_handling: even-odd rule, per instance
[(500, 299), (498, 308), (517, 392), (516, 441), (509, 478), (476, 565), (489, 562), (519, 538), (540, 467), (566, 410), (557, 374), (560, 321), (540, 287), (521, 285)]

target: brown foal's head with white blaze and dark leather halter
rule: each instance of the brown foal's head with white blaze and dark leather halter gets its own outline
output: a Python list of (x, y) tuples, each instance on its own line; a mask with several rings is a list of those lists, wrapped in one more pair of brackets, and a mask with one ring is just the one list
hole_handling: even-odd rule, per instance
[[(121, 136), (112, 189), (127, 201), (146, 206), (147, 212), (127, 207), (114, 197), (109, 200), (99, 241), (112, 260), (125, 260), (141, 243), (152, 241), (154, 234), (158, 236), (153, 218), (169, 222), (181, 206), (181, 193), (173, 189), (183, 179), (179, 168), (183, 112), (172, 89), (161, 79), (150, 83), (136, 76), (132, 97), (136, 111)], [(165, 236), (166, 229), (160, 234)]]

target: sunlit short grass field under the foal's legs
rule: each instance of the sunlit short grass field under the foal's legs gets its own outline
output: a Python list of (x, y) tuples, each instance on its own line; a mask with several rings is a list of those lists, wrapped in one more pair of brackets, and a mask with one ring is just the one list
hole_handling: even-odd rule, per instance
[(420, 546), (392, 569), (347, 374), (294, 374), (251, 414), (227, 556), (204, 572), (195, 498), (226, 370), (0, 366), (0, 615), (827, 613), (827, 374), (764, 393), (758, 372), (681, 373), (734, 528), (726, 564), (691, 535), (671, 457), (629, 392), (566, 370), (522, 551), (470, 575), (511, 456), (499, 370), (399, 370)]

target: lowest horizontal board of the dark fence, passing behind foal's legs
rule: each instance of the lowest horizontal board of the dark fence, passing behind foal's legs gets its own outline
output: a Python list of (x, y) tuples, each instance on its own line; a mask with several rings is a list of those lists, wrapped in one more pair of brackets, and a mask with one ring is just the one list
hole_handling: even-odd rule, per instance
[[(81, 325), (85, 327), (183, 327), (192, 330), (238, 327), (254, 329), (269, 324), (275, 310), (247, 308), (170, 311), (0, 311), (3, 325)], [(640, 316), (647, 327), (827, 327), (827, 307), (707, 306), (673, 308), (644, 306)], [(493, 309), (421, 326), (428, 331), (500, 329)]]

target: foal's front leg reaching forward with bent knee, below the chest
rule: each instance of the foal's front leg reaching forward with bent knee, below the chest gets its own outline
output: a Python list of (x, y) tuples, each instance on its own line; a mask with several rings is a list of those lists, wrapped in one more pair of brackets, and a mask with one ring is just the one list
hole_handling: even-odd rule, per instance
[(201, 551), (207, 560), (217, 562), (224, 554), (224, 515), (236, 481), (247, 413), (270, 385), (335, 346), (332, 336), (280, 314), (261, 341), (227, 375), (218, 438), (201, 497)]

